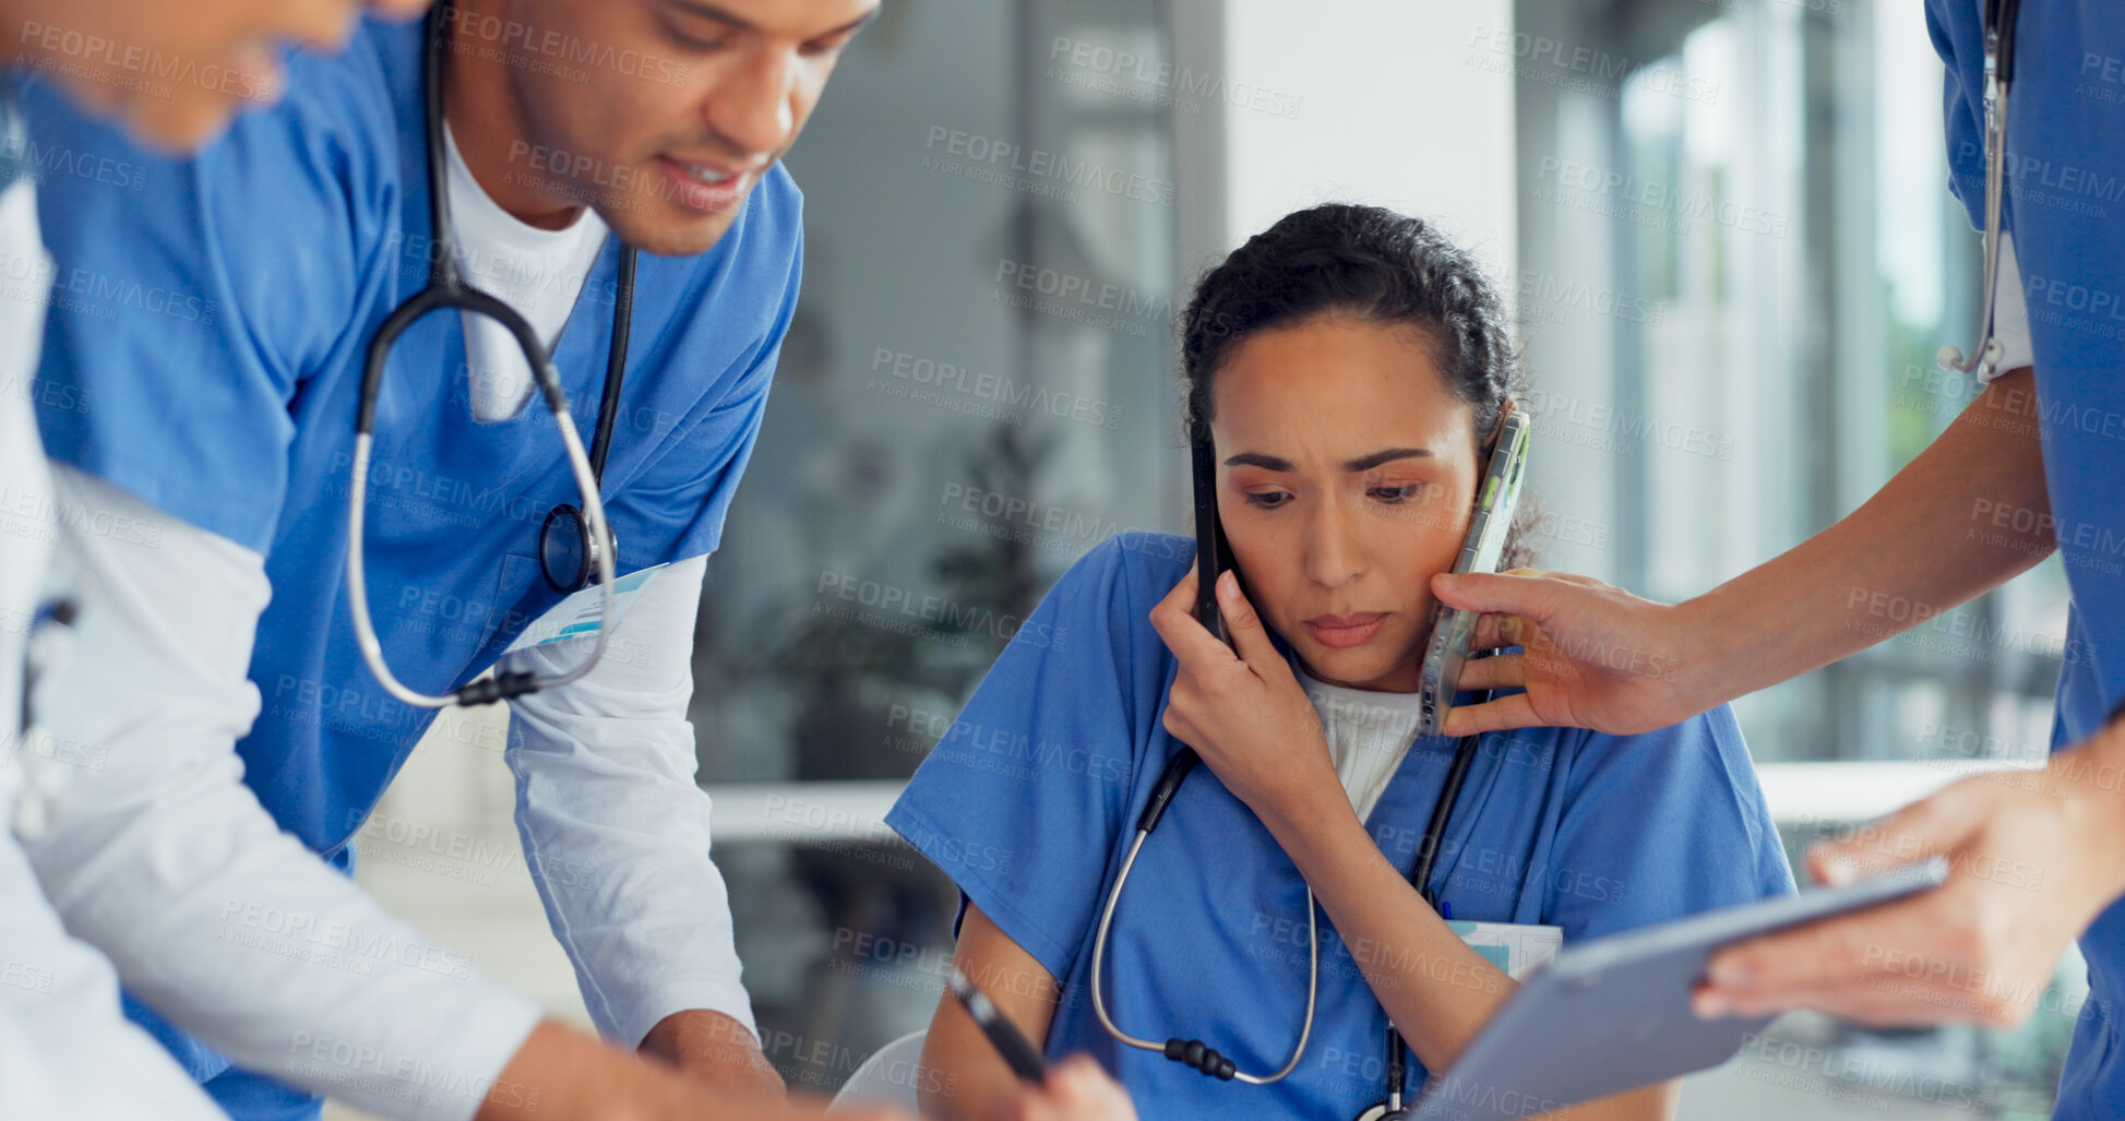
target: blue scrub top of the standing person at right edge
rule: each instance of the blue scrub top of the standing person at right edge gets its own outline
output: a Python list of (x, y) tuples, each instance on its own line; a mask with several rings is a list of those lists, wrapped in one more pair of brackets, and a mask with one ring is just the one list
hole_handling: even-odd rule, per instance
[[(1949, 66), (1951, 187), (1985, 225), (1985, 34), (1978, 0), (1930, 0)], [(2036, 347), (2038, 425), (2059, 559), (2074, 591), (2053, 749), (2125, 704), (2125, 6), (2021, 6), (2008, 98), (2006, 228), (2014, 232)], [(1983, 532), (1987, 525), (1974, 525)], [(2125, 1117), (2125, 904), (2080, 938), (2089, 1002), (2055, 1117)]]

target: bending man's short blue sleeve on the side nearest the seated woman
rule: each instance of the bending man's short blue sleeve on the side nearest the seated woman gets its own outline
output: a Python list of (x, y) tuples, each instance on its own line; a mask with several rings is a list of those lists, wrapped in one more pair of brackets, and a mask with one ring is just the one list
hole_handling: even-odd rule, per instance
[[(765, 185), (763, 185), (765, 187)], [(795, 187), (788, 187), (788, 206), (801, 202)], [(756, 191), (748, 206), (782, 204), (782, 198), (767, 198)], [(780, 230), (782, 223), (765, 223)], [(612, 525), (620, 540), (620, 570), (648, 568), (652, 564), (680, 562), (714, 553), (722, 542), (722, 521), (731, 513), (737, 496), (737, 481), (752, 459), (752, 445), (759, 442), (761, 421), (767, 417), (767, 389), (774, 385), (776, 364), (782, 359), (782, 340), (788, 336), (790, 319), (797, 315), (797, 291), (803, 283), (803, 230), (797, 217), (786, 221), (790, 236), (788, 264), (782, 279), (782, 302), (774, 325), (754, 338), (740, 362), (744, 377), (708, 406), (697, 419), (680, 423), (669, 436), (672, 417), (635, 408), (614, 421), (614, 442), (623, 438), (663, 440), (657, 459), (638, 476), (620, 485), (612, 502)], [(676, 370), (674, 370), (676, 372)], [(629, 542), (659, 542), (661, 551), (629, 555)]]

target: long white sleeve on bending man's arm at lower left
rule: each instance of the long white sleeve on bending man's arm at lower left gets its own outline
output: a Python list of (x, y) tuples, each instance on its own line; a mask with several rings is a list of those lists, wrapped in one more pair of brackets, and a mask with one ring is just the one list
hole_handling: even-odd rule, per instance
[(79, 617), (38, 727), (87, 766), (26, 853), (66, 930), (251, 1070), (421, 1121), (516, 1093), (495, 1078), (538, 1006), (387, 915), (242, 783), (264, 559), (79, 470), (55, 491)]

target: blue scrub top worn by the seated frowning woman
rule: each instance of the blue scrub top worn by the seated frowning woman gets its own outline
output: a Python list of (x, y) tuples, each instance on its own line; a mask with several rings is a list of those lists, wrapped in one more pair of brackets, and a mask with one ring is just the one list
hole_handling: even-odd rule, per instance
[[(886, 823), (1062, 978), (1050, 1057), (1090, 1051), (1143, 1117), (1356, 1117), (1386, 1093), (1388, 1019), (1326, 913), (1313, 1042), (1284, 1083), (1205, 1078), (1114, 1042), (1092, 1015), (1099, 908), (1179, 749), (1160, 723), (1177, 664), (1148, 617), (1192, 559), (1194, 540), (1169, 534), (1122, 534), (1080, 559)], [(1366, 821), (1405, 872), (1454, 753), (1456, 740), (1420, 736)], [(1794, 889), (1726, 708), (1645, 736), (1485, 736), (1432, 876), (1454, 919), (1558, 925), (1566, 947)], [(1305, 893), (1269, 830), (1196, 768), (1116, 910), (1116, 1023), (1201, 1038), (1241, 1070), (1284, 1066), (1307, 998)]]

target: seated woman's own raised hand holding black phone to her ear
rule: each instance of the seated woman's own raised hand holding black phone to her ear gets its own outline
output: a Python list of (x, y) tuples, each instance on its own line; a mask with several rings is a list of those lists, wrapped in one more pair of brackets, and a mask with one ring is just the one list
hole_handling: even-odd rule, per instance
[(1167, 698), (1164, 725), (1196, 749), (1247, 808), (1271, 830), (1279, 821), (1318, 813), (1315, 800), (1349, 808), (1328, 757), (1313, 702), (1284, 655), (1269, 640), (1262, 617), (1226, 572), (1218, 579), (1218, 608), (1232, 647), (1194, 617), (1196, 570), (1152, 608), (1152, 628), (1179, 659)]

